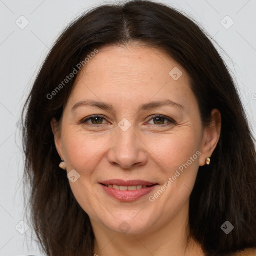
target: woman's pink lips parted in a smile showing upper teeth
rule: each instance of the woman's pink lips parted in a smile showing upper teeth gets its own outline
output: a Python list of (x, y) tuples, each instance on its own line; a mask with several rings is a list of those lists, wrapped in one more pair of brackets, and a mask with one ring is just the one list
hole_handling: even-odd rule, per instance
[(103, 190), (119, 201), (134, 201), (151, 192), (158, 184), (145, 180), (111, 179), (100, 181)]

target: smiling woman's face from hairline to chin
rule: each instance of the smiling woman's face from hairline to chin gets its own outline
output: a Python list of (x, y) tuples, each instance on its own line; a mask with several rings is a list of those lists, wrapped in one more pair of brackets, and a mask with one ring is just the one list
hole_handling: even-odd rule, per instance
[(187, 218), (216, 135), (203, 128), (185, 70), (132, 44), (99, 49), (79, 72), (55, 143), (94, 226), (146, 233)]

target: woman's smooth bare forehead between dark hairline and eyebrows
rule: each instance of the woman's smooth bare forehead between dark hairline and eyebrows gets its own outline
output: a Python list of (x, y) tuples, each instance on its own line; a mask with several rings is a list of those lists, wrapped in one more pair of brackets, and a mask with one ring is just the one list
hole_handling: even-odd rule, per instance
[(140, 44), (98, 50), (78, 73), (72, 102), (95, 99), (135, 104), (171, 97), (183, 105), (193, 99), (186, 71), (165, 52)]

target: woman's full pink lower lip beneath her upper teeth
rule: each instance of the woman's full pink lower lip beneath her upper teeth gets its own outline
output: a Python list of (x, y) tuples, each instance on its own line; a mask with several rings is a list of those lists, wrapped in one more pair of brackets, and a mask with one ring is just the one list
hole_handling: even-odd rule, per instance
[(108, 195), (111, 195), (112, 197), (114, 197), (119, 201), (126, 201), (126, 202), (135, 201), (139, 199), (140, 197), (150, 193), (157, 186), (157, 184), (155, 184), (155, 185), (148, 186), (146, 188), (137, 189), (137, 190), (117, 190), (114, 188), (110, 188), (108, 186), (104, 186), (102, 184), (100, 185)]

